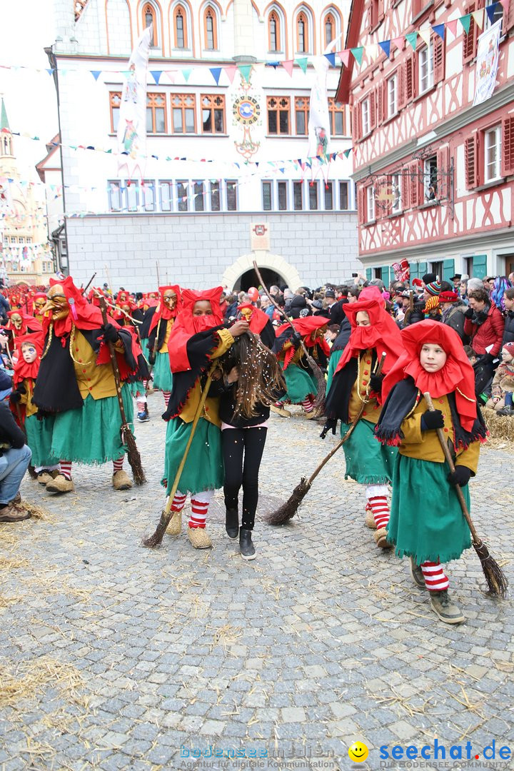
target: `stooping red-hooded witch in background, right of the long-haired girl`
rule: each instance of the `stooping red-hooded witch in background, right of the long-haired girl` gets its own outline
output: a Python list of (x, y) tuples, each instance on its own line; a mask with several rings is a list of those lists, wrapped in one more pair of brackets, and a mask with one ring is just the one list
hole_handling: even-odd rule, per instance
[(273, 352), (281, 365), (286, 382), (287, 393), (279, 401), (271, 406), (273, 412), (289, 418), (291, 412), (284, 409), (284, 402), (301, 404), (307, 419), (314, 418), (314, 401), (317, 394), (317, 382), (311, 367), (307, 363), (301, 340), (317, 363), (324, 369), (328, 363), (330, 348), (324, 338), (327, 331), (328, 318), (324, 316), (303, 316), (294, 318), (291, 325), (283, 324), (277, 329), (277, 338), (274, 342)]

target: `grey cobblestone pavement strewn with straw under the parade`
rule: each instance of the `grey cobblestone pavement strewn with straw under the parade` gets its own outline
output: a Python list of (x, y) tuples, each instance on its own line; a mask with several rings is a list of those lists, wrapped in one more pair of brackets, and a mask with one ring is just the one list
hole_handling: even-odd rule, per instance
[[(493, 740), (514, 749), (512, 606), (485, 596), (473, 550), (449, 567), (467, 621), (444, 625), (407, 561), (375, 547), (342, 451), (291, 524), (258, 519), (254, 562), (224, 533), (220, 493), (213, 550), (185, 534), (141, 548), (163, 504), (162, 396), (149, 406), (136, 430), (146, 486), (115, 493), (110, 466), (75, 466), (76, 493), (61, 498), (26, 479), (49, 517), (0, 525), (2, 771), (378, 769), (380, 746), (435, 739), (447, 752), (472, 742), (485, 769)], [(319, 432), (272, 416), (260, 515), (328, 452)], [(471, 489), (512, 583), (512, 455), (485, 449)], [(355, 741), (363, 763), (348, 757)]]

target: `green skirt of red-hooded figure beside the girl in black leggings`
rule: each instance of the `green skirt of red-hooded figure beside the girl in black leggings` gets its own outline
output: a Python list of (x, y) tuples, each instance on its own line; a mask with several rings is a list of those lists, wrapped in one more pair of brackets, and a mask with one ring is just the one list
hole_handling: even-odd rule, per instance
[[(170, 494), (192, 428), (193, 423), (184, 423), (180, 418), (172, 418), (168, 422), (163, 476), (163, 483), (167, 482), (166, 495)], [(191, 494), (219, 490), (223, 487), (224, 476), (221, 431), (213, 423), (200, 418), (180, 475), (178, 490)]]

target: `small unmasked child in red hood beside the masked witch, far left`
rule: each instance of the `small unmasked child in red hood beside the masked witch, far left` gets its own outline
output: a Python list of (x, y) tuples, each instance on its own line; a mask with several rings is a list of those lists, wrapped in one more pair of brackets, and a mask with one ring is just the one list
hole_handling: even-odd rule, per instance
[(43, 352), (43, 334), (23, 335), (16, 338), (18, 359), (14, 365), (11, 394), (12, 412), (25, 429), (27, 444), (32, 450), (32, 465), (40, 484), (47, 484), (55, 479), (59, 469), (59, 458), (52, 456), (52, 432), (49, 426), (37, 416), (38, 408), (32, 401), (35, 379), (39, 372), (39, 363)]

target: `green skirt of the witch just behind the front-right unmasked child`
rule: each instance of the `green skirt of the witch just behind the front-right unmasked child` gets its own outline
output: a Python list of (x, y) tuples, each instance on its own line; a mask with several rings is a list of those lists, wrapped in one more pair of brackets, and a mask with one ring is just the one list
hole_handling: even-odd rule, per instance
[[(350, 423), (341, 423), (341, 439), (349, 428)], [(344, 479), (349, 476), (360, 484), (391, 482), (398, 449), (375, 439), (374, 423), (361, 418), (343, 449), (346, 459)]]

